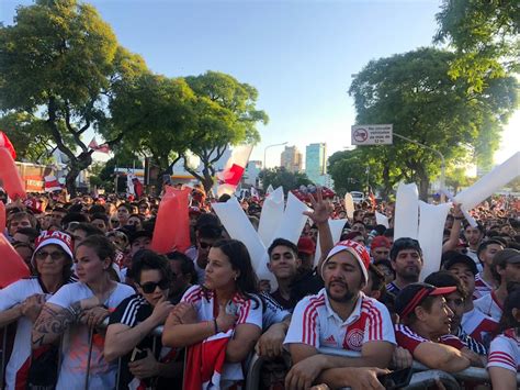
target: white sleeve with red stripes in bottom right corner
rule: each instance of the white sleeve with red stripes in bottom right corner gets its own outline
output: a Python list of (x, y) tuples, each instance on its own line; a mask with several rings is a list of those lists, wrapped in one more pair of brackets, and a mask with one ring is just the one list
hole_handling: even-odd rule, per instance
[(491, 342), (487, 368), (502, 367), (518, 372), (520, 370), (520, 338), (515, 328), (507, 330)]

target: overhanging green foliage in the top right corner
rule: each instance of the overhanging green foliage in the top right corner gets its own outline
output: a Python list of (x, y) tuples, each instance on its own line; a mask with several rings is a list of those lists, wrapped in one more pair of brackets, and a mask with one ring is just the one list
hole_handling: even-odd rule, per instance
[(456, 49), (450, 75), (483, 91), (487, 80), (520, 69), (520, 7), (515, 0), (443, 0), (437, 42)]

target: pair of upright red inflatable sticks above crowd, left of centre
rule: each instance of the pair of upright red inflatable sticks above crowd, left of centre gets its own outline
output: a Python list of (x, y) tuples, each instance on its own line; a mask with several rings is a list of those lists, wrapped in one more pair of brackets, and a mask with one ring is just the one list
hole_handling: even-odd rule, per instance
[(184, 252), (191, 245), (189, 194), (191, 188), (182, 190), (166, 186), (166, 192), (159, 203), (156, 226), (151, 238), (151, 249), (160, 254), (176, 250)]

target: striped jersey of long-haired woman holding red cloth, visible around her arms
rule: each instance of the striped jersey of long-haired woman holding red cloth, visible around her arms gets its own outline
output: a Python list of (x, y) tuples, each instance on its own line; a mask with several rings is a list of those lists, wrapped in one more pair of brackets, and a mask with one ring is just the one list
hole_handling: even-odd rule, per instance
[[(190, 287), (181, 299), (181, 302), (190, 302), (194, 305), (199, 321), (213, 321), (217, 315), (217, 303), (212, 290), (206, 290), (202, 286)], [(238, 320), (235, 326), (240, 324), (252, 324), (262, 328), (262, 302), (260, 298), (256, 300), (235, 294), (231, 302), (236, 307)], [(230, 332), (230, 331), (229, 331)], [(233, 333), (229, 334), (231, 336)], [(210, 344), (208, 344), (210, 345)], [(206, 347), (208, 346), (206, 345)], [(222, 383), (240, 381), (245, 378), (242, 366), (239, 363), (224, 364), (221, 380)]]

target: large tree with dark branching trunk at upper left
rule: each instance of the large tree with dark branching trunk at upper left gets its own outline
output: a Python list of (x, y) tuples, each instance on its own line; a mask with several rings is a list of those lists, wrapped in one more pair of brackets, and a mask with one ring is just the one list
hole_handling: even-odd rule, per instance
[(45, 133), (69, 159), (71, 194), (79, 172), (92, 164), (93, 151), (81, 136), (93, 129), (110, 135), (113, 146), (133, 130), (114, 127), (108, 107), (145, 68), (139, 56), (117, 45), (92, 5), (76, 0), (19, 7), (15, 24), (0, 27), (0, 109), (44, 121)]

